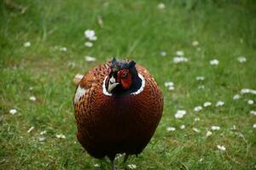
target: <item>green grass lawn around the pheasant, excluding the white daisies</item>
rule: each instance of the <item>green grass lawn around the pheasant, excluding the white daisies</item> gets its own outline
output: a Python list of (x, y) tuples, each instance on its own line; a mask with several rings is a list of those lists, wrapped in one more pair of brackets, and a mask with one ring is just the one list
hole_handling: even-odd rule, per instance
[[(11, 1), (4, 1), (11, 2)], [(253, 169), (256, 162), (256, 10), (253, 1), (26, 1), (24, 14), (0, 3), (0, 169), (109, 169), (109, 162), (90, 157), (75, 138), (73, 77), (113, 56), (126, 56), (154, 75), (165, 96), (164, 115), (154, 138), (128, 164), (137, 169)], [(102, 16), (103, 26), (97, 24)], [(84, 31), (93, 29), (98, 40), (84, 47)], [(191, 42), (199, 41), (199, 48)], [(31, 42), (29, 48), (24, 42)], [(67, 47), (67, 52), (55, 45)], [(167, 56), (160, 56), (160, 51)], [(174, 64), (177, 50), (189, 62)], [(96, 62), (84, 61), (85, 55)], [(237, 57), (245, 56), (246, 63)], [(219, 65), (209, 65), (218, 59)], [(195, 77), (206, 77), (198, 82)], [(170, 92), (164, 82), (175, 83)], [(198, 86), (204, 85), (204, 89)], [(32, 87), (32, 90), (29, 88)], [(30, 96), (36, 96), (32, 102)], [(218, 100), (225, 105), (216, 108)], [(212, 106), (195, 113), (196, 105)], [(9, 114), (15, 108), (18, 113)], [(177, 110), (187, 115), (175, 119)], [(195, 122), (195, 117), (201, 120)], [(181, 130), (179, 126), (185, 125)], [(219, 131), (206, 137), (217, 125)], [(236, 131), (230, 128), (236, 125)], [(166, 127), (176, 127), (167, 132)], [(27, 133), (30, 127), (35, 127)], [(201, 130), (195, 133), (192, 127)], [(38, 141), (46, 130), (44, 142)], [(67, 139), (57, 139), (63, 133)], [(237, 135), (241, 133), (242, 136)], [(226, 151), (217, 149), (221, 144)], [(98, 163), (101, 167), (94, 167)], [(118, 161), (119, 168), (127, 168)]]

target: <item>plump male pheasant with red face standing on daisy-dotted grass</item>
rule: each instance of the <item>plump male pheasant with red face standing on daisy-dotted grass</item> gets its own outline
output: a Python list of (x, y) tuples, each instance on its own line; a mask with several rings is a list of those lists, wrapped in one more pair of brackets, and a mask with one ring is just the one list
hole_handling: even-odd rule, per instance
[(90, 156), (138, 155), (160, 122), (163, 96), (142, 65), (112, 59), (88, 71), (73, 97), (77, 139)]

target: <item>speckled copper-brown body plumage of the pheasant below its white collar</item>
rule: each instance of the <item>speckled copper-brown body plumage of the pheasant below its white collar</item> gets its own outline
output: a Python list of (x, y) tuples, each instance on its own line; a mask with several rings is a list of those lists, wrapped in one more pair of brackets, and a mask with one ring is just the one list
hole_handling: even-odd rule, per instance
[(74, 103), (77, 138), (90, 156), (112, 157), (117, 153), (139, 154), (154, 134), (163, 111), (163, 96), (154, 78), (141, 65), (145, 79), (137, 95), (108, 96), (102, 83), (109, 63), (98, 65), (84, 75), (78, 86), (86, 92)]

